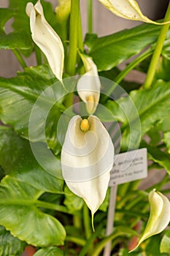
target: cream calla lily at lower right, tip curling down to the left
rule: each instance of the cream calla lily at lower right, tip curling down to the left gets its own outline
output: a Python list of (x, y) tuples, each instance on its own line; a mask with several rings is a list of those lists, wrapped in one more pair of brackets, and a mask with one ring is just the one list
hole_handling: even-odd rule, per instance
[[(161, 233), (170, 222), (170, 202), (165, 195), (161, 192), (156, 192), (154, 189), (149, 194), (149, 202), (150, 217), (142, 238), (140, 238), (139, 243), (134, 249), (136, 249), (145, 239), (150, 238), (150, 236)], [(134, 251), (134, 249), (132, 251)]]

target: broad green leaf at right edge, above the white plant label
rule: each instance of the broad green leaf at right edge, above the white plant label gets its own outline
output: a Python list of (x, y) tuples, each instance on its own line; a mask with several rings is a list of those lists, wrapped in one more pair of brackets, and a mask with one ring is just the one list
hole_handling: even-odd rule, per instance
[(152, 89), (131, 91), (129, 96), (117, 99), (116, 102), (111, 100), (107, 102), (107, 108), (112, 111), (118, 121), (123, 122), (121, 142), (123, 150), (127, 150), (130, 140), (132, 140), (131, 148), (136, 148), (142, 136), (155, 124), (169, 116), (170, 83), (160, 80)]

